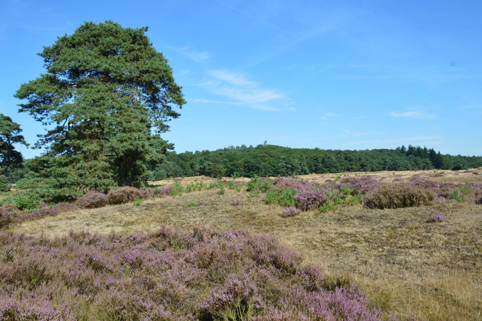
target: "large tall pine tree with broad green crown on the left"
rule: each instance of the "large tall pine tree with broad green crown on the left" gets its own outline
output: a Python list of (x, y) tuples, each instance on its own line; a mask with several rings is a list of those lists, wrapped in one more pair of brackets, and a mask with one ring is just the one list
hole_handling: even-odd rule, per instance
[(186, 103), (146, 31), (86, 22), (44, 47), (46, 73), (15, 94), (27, 100), (20, 112), (53, 125), (35, 145), (47, 152), (24, 186), (66, 200), (90, 188), (145, 184), (148, 167), (173, 148), (151, 132), (168, 130), (166, 121), (179, 117), (173, 107)]

